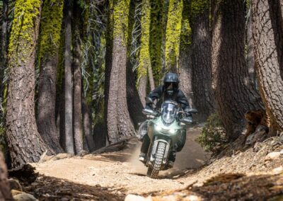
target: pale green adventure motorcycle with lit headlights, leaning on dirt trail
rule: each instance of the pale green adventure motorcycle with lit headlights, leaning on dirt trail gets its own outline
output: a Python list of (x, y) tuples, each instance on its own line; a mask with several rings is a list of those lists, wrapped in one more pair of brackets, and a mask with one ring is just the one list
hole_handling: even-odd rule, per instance
[[(196, 109), (188, 112), (197, 113)], [(192, 124), (192, 117), (184, 117), (184, 111), (175, 101), (164, 101), (161, 113), (155, 110), (144, 109), (148, 117), (145, 126), (139, 129), (139, 139), (147, 133), (150, 146), (144, 164), (148, 167), (147, 176), (157, 178), (159, 171), (173, 168), (168, 166), (168, 157), (171, 151), (183, 149), (186, 137), (186, 125)]]

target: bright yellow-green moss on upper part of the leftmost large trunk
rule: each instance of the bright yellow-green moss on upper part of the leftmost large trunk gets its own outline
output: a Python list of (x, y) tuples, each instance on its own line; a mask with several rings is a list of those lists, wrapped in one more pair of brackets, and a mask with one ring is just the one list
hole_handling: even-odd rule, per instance
[[(10, 66), (17, 67), (21, 59), (30, 58), (34, 50), (35, 26), (40, 15), (40, 0), (18, 0), (15, 4), (8, 57)], [(21, 55), (18, 55), (21, 52)], [(11, 57), (11, 55), (13, 55)]]

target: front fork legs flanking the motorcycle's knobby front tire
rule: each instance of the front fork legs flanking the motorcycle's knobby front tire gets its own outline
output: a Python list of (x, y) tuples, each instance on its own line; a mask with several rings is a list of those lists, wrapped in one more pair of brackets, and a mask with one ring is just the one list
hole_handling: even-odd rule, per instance
[(156, 159), (156, 151), (158, 149), (159, 143), (165, 143), (166, 144), (164, 155), (163, 155), (162, 165), (166, 165), (167, 162), (168, 162), (171, 139), (166, 141), (164, 139), (157, 139), (157, 137), (154, 137), (154, 144), (151, 145), (151, 149), (149, 149), (149, 153), (148, 153), (148, 157), (147, 157), (147, 159), (149, 159), (147, 161), (147, 163), (149, 163), (149, 165), (152, 165), (154, 163), (154, 160)]

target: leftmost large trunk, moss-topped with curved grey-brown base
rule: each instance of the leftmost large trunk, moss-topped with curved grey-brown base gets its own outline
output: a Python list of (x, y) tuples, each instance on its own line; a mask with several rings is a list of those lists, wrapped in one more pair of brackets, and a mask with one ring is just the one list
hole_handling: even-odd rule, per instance
[[(35, 45), (41, 1), (16, 1), (9, 44), (7, 139), (12, 166), (36, 162), (50, 150), (37, 132), (35, 122)], [(33, 9), (23, 9), (30, 4)], [(24, 34), (23, 34), (24, 33)]]

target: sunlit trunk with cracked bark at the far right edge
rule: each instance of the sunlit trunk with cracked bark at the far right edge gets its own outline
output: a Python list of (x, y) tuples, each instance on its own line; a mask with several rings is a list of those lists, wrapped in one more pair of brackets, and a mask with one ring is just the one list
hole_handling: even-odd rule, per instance
[(283, 130), (283, 2), (253, 0), (255, 69), (272, 134)]

